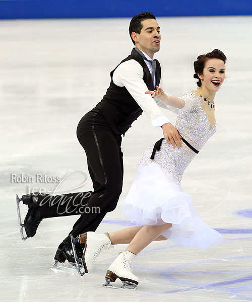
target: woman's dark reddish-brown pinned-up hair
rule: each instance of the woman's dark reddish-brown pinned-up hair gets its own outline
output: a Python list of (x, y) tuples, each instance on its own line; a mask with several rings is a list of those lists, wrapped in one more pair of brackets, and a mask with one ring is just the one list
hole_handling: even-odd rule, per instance
[(198, 87), (201, 87), (201, 79), (199, 78), (198, 73), (203, 73), (205, 64), (209, 59), (220, 59), (224, 62), (224, 64), (226, 64), (227, 60), (225, 54), (219, 49), (214, 49), (213, 51), (208, 52), (207, 54), (199, 55), (197, 61), (194, 62), (194, 78), (199, 80), (197, 82)]

